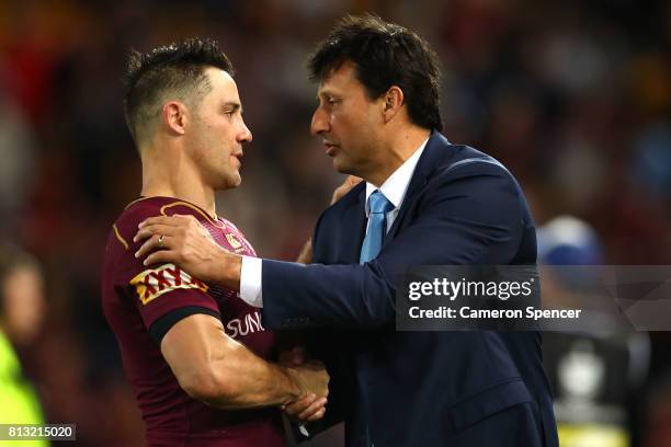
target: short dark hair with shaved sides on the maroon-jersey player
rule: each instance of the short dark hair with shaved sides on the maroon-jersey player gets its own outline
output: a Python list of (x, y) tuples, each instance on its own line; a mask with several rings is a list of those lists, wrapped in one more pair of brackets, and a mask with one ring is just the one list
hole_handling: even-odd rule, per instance
[(130, 50), (124, 84), (124, 113), (130, 135), (138, 140), (160, 115), (166, 94), (196, 103), (212, 90), (205, 68), (215, 67), (234, 76), (234, 68), (219, 44), (193, 37), (153, 48), (147, 54)]

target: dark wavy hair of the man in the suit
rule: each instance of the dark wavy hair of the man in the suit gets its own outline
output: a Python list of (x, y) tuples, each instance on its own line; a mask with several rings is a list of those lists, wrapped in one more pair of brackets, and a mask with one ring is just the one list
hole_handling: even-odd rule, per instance
[(356, 77), (368, 98), (380, 98), (390, 87), (403, 92), (410, 121), (442, 130), (437, 55), (427, 41), (373, 14), (345, 15), (308, 59), (312, 81), (322, 81), (343, 62), (356, 66)]

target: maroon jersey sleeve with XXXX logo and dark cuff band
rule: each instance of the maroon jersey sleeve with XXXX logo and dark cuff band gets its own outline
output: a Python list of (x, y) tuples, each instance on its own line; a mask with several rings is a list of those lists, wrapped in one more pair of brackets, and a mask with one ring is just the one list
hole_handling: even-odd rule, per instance
[(141, 220), (158, 215), (149, 200), (138, 203), (116, 222), (115, 231), (127, 247), (120, 247), (114, 266), (114, 287), (133, 301), (145, 328), (160, 343), (168, 330), (181, 319), (194, 313), (220, 319), (220, 312), (203, 282), (177, 265), (145, 266), (143, 260), (135, 257), (140, 244), (133, 242), (133, 236)]

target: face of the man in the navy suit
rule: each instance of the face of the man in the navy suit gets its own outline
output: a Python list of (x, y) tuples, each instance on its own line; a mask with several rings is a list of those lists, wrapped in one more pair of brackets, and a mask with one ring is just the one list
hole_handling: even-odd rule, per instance
[(317, 96), (310, 131), (322, 138), (336, 170), (366, 179), (379, 163), (380, 100), (368, 99), (350, 61), (321, 81)]

